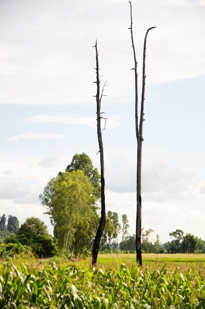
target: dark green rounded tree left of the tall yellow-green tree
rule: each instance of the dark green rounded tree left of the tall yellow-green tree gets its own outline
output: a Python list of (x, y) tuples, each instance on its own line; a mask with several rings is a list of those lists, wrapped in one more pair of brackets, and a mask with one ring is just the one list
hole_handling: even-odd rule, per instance
[(18, 230), (18, 239), (23, 245), (29, 245), (38, 256), (52, 256), (55, 244), (48, 227), (38, 218), (27, 218)]

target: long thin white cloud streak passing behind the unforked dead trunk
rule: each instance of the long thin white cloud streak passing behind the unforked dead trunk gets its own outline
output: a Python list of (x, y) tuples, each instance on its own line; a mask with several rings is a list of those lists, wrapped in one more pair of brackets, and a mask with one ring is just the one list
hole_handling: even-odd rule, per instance
[[(121, 116), (109, 116), (106, 119), (106, 128), (115, 128), (120, 125)], [(32, 122), (53, 122), (53, 123), (66, 123), (66, 124), (80, 124), (87, 125), (92, 128), (96, 128), (96, 117), (87, 117), (79, 115), (71, 116), (49, 116), (49, 115), (34, 115), (29, 118), (25, 118), (26, 121)], [(103, 119), (102, 119), (103, 123)], [(103, 125), (103, 124), (102, 124)]]

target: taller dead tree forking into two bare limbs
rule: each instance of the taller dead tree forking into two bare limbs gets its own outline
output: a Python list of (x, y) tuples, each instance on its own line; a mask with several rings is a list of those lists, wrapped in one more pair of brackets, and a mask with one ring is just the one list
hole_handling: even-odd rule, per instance
[[(129, 1), (130, 2), (130, 1)], [(142, 69), (142, 93), (141, 93), (141, 111), (140, 120), (138, 123), (138, 85), (137, 85), (137, 56), (135, 51), (134, 39), (133, 39), (133, 20), (132, 20), (132, 4), (130, 2), (130, 15), (131, 15), (131, 39), (134, 52), (135, 60), (135, 119), (136, 119), (136, 137), (137, 137), (137, 220), (136, 220), (136, 253), (137, 253), (137, 264), (142, 265), (141, 259), (141, 159), (142, 159), (142, 129), (144, 121), (144, 96), (145, 96), (145, 58), (146, 58), (146, 40), (147, 35), (151, 29), (156, 27), (151, 27), (147, 30), (144, 38), (144, 50), (143, 50), (143, 69)]]

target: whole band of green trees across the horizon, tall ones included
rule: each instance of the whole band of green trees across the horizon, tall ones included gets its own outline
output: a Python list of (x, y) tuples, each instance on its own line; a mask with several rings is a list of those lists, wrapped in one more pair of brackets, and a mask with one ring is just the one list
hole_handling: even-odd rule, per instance
[[(3, 214), (0, 217), (0, 257), (28, 252), (37, 257), (91, 255), (101, 218), (100, 197), (98, 169), (93, 167), (87, 154), (75, 154), (65, 172), (52, 178), (39, 196), (47, 207), (54, 235), (49, 234), (48, 227), (38, 218), (27, 218), (19, 226), (17, 217), (9, 215), (6, 219)], [(123, 214), (120, 222), (118, 213), (109, 210), (105, 217), (99, 251), (136, 253), (136, 235), (129, 234), (127, 215)], [(159, 235), (154, 241), (150, 240), (153, 232), (142, 229), (142, 253), (205, 253), (205, 241), (191, 233), (170, 232), (171, 241), (162, 244)]]

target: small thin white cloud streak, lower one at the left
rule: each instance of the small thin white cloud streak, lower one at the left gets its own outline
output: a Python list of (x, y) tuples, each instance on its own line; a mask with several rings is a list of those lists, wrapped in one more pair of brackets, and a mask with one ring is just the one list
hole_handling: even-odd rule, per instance
[(12, 135), (7, 140), (9, 142), (16, 142), (19, 140), (36, 140), (36, 139), (68, 139), (63, 134), (50, 134), (50, 133), (24, 133), (21, 135)]

